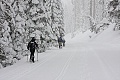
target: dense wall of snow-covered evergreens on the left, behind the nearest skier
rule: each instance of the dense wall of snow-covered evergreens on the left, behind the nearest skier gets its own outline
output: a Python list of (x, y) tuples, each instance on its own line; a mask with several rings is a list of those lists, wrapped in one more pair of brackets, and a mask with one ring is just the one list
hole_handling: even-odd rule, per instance
[(31, 37), (36, 37), (39, 52), (43, 52), (60, 34), (64, 34), (60, 0), (0, 0), (0, 63), (3, 67), (26, 55)]

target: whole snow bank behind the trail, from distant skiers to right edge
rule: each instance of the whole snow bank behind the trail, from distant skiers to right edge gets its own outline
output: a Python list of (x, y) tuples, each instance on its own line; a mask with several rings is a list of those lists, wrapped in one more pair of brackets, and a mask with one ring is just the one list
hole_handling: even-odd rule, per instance
[(65, 36), (67, 42), (99, 42), (99, 43), (111, 43), (111, 44), (118, 44), (120, 43), (120, 31), (114, 31), (115, 24), (110, 24), (108, 28), (104, 31), (99, 32), (98, 34), (91, 32), (90, 30), (82, 33), (82, 32), (75, 32), (74, 38), (72, 34), (69, 33)]

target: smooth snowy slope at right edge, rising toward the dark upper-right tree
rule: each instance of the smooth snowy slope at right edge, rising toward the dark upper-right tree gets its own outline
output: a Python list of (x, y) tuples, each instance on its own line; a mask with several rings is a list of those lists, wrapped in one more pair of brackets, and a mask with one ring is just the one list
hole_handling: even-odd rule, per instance
[(100, 34), (95, 35), (92, 38), (92, 42), (100, 42), (100, 43), (118, 43), (120, 40), (120, 32), (113, 31), (115, 24), (110, 24), (108, 29), (104, 30)]

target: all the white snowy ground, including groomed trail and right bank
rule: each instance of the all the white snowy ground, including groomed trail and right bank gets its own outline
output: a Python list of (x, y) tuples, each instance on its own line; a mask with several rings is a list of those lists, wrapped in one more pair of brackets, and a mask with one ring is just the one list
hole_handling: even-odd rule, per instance
[(68, 34), (66, 47), (39, 53), (35, 63), (25, 57), (3, 68), (0, 80), (120, 80), (120, 32), (112, 26), (97, 35)]

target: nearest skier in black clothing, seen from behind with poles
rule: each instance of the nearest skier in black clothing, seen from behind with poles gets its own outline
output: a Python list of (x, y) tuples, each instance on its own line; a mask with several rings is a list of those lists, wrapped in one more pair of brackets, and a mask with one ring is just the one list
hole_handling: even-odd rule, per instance
[(28, 43), (27, 49), (30, 50), (30, 62), (32, 61), (34, 63), (34, 53), (35, 48), (38, 47), (38, 44), (35, 42), (35, 37), (32, 38), (32, 40)]

